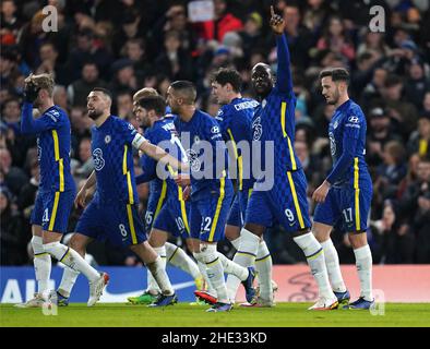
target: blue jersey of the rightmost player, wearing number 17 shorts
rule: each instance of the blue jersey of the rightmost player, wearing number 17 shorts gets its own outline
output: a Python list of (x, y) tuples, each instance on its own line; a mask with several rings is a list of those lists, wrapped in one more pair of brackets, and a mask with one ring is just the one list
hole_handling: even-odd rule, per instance
[(366, 165), (366, 117), (361, 108), (348, 99), (334, 112), (329, 125), (333, 170), (327, 181), (334, 186), (370, 180)]

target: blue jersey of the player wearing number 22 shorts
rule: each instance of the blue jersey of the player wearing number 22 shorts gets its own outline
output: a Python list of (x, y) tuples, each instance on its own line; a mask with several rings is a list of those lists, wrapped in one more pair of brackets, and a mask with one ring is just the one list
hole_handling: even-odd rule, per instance
[[(195, 110), (189, 122), (176, 118), (175, 127), (190, 163), (191, 198), (199, 200), (207, 191), (220, 193), (226, 184), (228, 154), (218, 122), (208, 113)], [(212, 154), (204, 151), (201, 141), (206, 141)]]

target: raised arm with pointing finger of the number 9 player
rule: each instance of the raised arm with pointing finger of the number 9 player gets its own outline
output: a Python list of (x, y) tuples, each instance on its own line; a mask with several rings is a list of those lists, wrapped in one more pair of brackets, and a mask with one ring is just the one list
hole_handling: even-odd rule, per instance
[(290, 70), (290, 57), (287, 38), (285, 36), (285, 22), (283, 17), (275, 13), (271, 7), (270, 25), (276, 34), (277, 73), (275, 87), (283, 93), (292, 91), (292, 79)]

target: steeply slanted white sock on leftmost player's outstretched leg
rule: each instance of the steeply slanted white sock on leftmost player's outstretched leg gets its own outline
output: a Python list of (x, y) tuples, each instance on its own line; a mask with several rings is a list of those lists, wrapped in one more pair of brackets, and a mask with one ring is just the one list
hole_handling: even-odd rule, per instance
[(58, 241), (44, 244), (44, 249), (51, 256), (56, 257), (58, 262), (84, 274), (89, 282), (93, 282), (100, 277), (100, 274), (73, 249), (68, 248)]

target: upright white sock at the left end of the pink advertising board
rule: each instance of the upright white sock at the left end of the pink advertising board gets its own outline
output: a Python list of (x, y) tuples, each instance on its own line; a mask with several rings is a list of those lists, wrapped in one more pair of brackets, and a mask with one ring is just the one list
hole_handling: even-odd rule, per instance
[(259, 276), (260, 296), (265, 300), (273, 300), (272, 267), (271, 252), (265, 241), (261, 241), (255, 258), (255, 270)]

